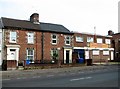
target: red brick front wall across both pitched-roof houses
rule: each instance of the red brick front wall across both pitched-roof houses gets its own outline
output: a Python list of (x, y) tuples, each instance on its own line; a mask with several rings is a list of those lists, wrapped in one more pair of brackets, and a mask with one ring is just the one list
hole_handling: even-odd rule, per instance
[[(17, 43), (9, 43), (9, 34), (10, 30), (6, 30), (6, 43), (5, 45), (20, 45), (20, 51), (19, 51), (19, 60), (23, 61), (26, 60), (26, 49), (27, 48), (34, 48), (34, 59), (35, 60), (41, 60), (42, 59), (42, 32), (39, 31), (30, 31), (30, 30), (13, 30), (17, 32)], [(28, 44), (27, 43), (27, 32), (34, 32), (34, 44)], [(63, 60), (63, 46), (65, 46), (64, 36), (67, 34), (61, 34), (61, 33), (54, 33), (58, 35), (58, 43), (56, 45), (53, 45), (51, 43), (51, 34), (50, 32), (44, 32), (43, 36), (43, 59), (44, 60), (50, 60), (51, 59), (51, 49), (52, 48), (60, 48), (59, 50), (59, 59)], [(69, 36), (69, 35), (68, 35)], [(72, 35), (70, 35), (72, 36)], [(72, 46), (72, 39), (71, 39), (71, 45)]]

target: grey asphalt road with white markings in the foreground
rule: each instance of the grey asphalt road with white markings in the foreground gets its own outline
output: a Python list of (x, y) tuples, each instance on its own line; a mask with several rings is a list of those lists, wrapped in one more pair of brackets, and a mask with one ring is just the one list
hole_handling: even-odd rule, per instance
[(2, 87), (118, 87), (118, 67), (2, 81)]

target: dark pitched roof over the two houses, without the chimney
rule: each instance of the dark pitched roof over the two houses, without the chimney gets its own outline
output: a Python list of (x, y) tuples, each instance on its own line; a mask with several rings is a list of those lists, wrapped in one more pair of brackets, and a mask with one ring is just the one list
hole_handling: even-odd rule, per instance
[(43, 23), (34, 24), (33, 22), (27, 20), (18, 20), (2, 17), (2, 25), (5, 27), (14, 27), (14, 28), (23, 28), (30, 30), (39, 30), (45, 32), (57, 32), (57, 33), (67, 33), (72, 34), (67, 28), (60, 24), (52, 24), (52, 23)]

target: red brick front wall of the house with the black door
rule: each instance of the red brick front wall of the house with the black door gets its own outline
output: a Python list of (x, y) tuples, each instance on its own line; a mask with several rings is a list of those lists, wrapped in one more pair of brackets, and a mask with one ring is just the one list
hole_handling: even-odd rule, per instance
[[(65, 46), (64, 36), (65, 34), (57, 34), (58, 35), (58, 41), (56, 45), (53, 45), (51, 42), (51, 34), (57, 34), (57, 33), (44, 33), (44, 59), (50, 60), (51, 55), (50, 51), (52, 48), (60, 48), (59, 50), (59, 59), (63, 60), (63, 46)], [(71, 45), (72, 46), (72, 42)]]

